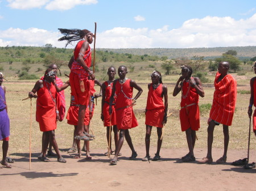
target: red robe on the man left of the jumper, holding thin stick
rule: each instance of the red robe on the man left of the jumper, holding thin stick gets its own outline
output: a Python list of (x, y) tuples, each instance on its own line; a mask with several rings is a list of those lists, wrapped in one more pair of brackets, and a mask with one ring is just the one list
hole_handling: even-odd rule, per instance
[[(56, 125), (56, 108), (52, 100), (56, 98), (56, 89), (43, 81), (43, 87), (38, 90), (38, 99), (36, 100), (36, 121), (39, 122), (40, 131), (50, 131), (57, 128)], [(51, 95), (50, 95), (50, 92)]]

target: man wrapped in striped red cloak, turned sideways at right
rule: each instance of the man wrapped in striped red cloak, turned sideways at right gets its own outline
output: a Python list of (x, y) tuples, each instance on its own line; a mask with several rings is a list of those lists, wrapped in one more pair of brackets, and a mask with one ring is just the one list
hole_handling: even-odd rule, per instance
[(220, 62), (214, 80), (215, 91), (213, 94), (212, 109), (208, 119), (208, 152), (207, 156), (199, 163), (212, 163), (213, 131), (216, 125), (223, 125), (224, 154), (216, 161), (217, 164), (226, 162), (229, 145), (229, 126), (232, 125), (234, 110), (237, 100), (237, 82), (228, 74), (229, 62)]

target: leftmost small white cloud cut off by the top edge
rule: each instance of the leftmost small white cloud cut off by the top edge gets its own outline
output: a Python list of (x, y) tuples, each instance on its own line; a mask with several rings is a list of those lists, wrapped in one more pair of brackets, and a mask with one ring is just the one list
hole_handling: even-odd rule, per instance
[(34, 9), (41, 8), (50, 0), (7, 0), (9, 7), (13, 9)]

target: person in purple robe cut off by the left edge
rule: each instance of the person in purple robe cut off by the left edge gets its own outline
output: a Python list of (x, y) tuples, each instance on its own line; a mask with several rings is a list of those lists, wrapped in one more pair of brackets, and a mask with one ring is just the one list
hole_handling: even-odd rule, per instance
[(3, 158), (1, 164), (6, 168), (11, 168), (11, 165), (7, 163), (6, 156), (9, 147), (10, 136), (10, 120), (7, 114), (7, 105), (5, 99), (6, 88), (2, 85), (3, 73), (0, 73), (0, 140), (3, 141)]

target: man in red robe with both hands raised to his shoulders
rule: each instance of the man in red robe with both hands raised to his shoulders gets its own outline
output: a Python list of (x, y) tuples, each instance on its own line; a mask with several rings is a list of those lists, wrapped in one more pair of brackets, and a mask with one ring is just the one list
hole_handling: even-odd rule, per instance
[(177, 80), (174, 88), (173, 96), (181, 91), (180, 102), (180, 126), (181, 131), (185, 131), (188, 154), (181, 159), (183, 162), (193, 162), (196, 160), (194, 156), (194, 147), (196, 143), (196, 131), (200, 128), (200, 111), (199, 111), (199, 95), (204, 97), (204, 90), (199, 78), (193, 78), (192, 67), (181, 66), (181, 77)]

